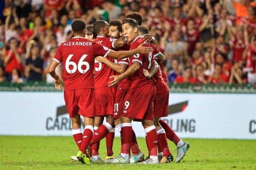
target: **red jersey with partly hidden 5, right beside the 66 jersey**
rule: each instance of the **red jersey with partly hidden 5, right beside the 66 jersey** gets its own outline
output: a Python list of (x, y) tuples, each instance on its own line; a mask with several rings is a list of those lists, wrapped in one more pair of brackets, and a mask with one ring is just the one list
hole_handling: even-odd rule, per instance
[[(116, 39), (111, 38), (111, 37), (102, 37), (102, 36), (97, 36), (96, 42), (102, 44), (105, 47), (108, 47), (109, 49), (114, 49), (114, 42)], [(108, 60), (111, 62), (114, 62), (114, 58), (108, 57)], [(113, 69), (108, 67), (105, 63), (100, 63), (98, 61), (95, 61), (95, 66), (94, 66), (94, 86), (95, 89), (98, 89), (100, 87), (106, 87), (108, 86), (109, 77), (112, 75), (115, 75), (115, 72)]]

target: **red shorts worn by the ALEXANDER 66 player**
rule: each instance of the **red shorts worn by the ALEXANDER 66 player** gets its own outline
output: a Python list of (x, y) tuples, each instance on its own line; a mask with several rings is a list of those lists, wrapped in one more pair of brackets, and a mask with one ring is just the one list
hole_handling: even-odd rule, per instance
[(95, 94), (94, 89), (76, 89), (64, 91), (64, 100), (70, 118), (76, 114), (83, 117), (95, 116)]

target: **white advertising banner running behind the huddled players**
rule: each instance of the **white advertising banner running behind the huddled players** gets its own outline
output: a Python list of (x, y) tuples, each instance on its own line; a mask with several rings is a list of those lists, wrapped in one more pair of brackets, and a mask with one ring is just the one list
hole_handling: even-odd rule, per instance
[[(256, 139), (256, 94), (170, 93), (163, 119), (182, 138)], [(133, 128), (145, 136), (140, 122)], [(71, 135), (71, 129), (63, 92), (0, 92), (0, 135)]]

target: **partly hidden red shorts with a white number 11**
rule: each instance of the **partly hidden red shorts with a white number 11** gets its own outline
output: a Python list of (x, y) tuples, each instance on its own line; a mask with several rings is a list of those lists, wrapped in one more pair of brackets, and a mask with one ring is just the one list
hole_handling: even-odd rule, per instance
[(113, 118), (120, 118), (121, 113), (124, 109), (124, 99), (129, 89), (117, 89), (116, 90), (116, 98), (115, 98), (115, 104), (114, 104), (114, 115)]

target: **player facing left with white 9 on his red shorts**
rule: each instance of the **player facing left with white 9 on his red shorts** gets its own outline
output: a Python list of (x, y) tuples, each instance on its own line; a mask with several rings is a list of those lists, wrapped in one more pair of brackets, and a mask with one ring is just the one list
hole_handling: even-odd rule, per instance
[[(122, 30), (128, 42), (131, 42), (131, 49), (137, 48), (144, 42), (138, 31), (138, 23), (134, 19), (125, 19), (122, 22)], [(145, 46), (152, 47), (152, 43), (145, 43)], [(153, 67), (154, 66), (154, 67)], [(148, 150), (150, 157), (141, 162), (142, 164), (159, 164), (157, 158), (157, 132), (153, 121), (153, 107), (155, 86), (154, 79), (146, 78), (143, 70), (158, 69), (152, 53), (147, 55), (136, 54), (131, 57), (129, 68), (121, 75), (114, 75), (110, 86), (116, 86), (122, 79), (131, 77), (131, 86), (125, 96), (124, 109), (121, 116), (121, 153), (112, 160), (112, 163), (129, 163), (130, 140), (132, 136), (133, 119), (142, 120), (147, 135)], [(143, 105), (140, 103), (143, 101)]]

